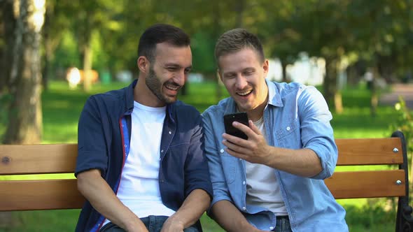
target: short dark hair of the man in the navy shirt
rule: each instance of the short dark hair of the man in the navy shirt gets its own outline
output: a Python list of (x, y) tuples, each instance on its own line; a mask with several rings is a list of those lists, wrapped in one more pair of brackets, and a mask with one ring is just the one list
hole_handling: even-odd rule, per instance
[(190, 45), (190, 38), (179, 27), (169, 24), (154, 24), (146, 29), (139, 39), (138, 57), (144, 56), (149, 61), (153, 61), (156, 45), (164, 42), (183, 47)]

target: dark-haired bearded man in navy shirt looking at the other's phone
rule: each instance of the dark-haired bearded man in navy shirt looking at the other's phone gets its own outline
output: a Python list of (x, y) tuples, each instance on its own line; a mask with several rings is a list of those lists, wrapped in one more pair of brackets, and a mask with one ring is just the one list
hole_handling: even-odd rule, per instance
[(177, 101), (190, 38), (155, 24), (138, 46), (139, 78), (90, 96), (78, 123), (76, 231), (202, 231), (211, 202), (200, 113)]

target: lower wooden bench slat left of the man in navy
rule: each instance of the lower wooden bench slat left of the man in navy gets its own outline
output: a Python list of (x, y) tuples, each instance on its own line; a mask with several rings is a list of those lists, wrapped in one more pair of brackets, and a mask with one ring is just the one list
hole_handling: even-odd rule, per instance
[(76, 180), (0, 181), (0, 211), (82, 208)]

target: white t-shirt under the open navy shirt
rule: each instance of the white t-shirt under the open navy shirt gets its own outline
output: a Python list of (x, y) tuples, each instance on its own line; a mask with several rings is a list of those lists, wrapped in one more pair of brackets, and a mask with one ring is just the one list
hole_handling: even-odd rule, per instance
[[(153, 108), (134, 101), (130, 152), (123, 167), (118, 198), (139, 218), (171, 216), (162, 203), (159, 188), (160, 140), (166, 106)], [(108, 223), (106, 219), (104, 224)]]

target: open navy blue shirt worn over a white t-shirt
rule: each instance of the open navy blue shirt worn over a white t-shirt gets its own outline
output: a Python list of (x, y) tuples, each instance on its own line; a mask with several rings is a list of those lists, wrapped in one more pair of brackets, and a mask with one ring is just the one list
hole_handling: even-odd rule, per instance
[[(116, 193), (130, 145), (134, 87), (96, 94), (87, 99), (78, 123), (78, 159), (75, 175), (99, 169)], [(212, 196), (204, 156), (202, 118), (181, 101), (167, 105), (160, 144), (159, 185), (162, 202), (178, 210), (194, 189)], [(104, 217), (88, 201), (80, 212), (76, 231), (97, 231)], [(200, 222), (197, 222), (200, 228)]]

